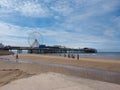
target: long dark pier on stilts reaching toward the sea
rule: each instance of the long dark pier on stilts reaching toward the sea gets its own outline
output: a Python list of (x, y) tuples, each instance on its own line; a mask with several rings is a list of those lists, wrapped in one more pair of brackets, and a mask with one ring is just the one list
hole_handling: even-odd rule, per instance
[(46, 46), (45, 48), (40, 47), (18, 47), (11, 46), (9, 50), (17, 50), (17, 53), (22, 53), (23, 50), (27, 50), (27, 53), (35, 53), (35, 54), (49, 54), (49, 53), (96, 53), (96, 49), (91, 48), (83, 48), (83, 49), (73, 49), (66, 48), (61, 46)]

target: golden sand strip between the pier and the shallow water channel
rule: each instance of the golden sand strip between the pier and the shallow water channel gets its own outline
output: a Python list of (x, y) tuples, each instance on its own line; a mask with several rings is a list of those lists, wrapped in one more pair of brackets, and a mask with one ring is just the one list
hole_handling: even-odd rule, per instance
[[(8, 57), (14, 59), (14, 56)], [(72, 59), (63, 56), (48, 56), (48, 55), (37, 55), (37, 54), (20, 54), (20, 60), (28, 61), (42, 61), (48, 63), (57, 63), (64, 65), (80, 66), (85, 68), (93, 68), (100, 70), (107, 70), (113, 72), (120, 72), (120, 60), (106, 60), (106, 59), (93, 59), (93, 58), (80, 58)]]

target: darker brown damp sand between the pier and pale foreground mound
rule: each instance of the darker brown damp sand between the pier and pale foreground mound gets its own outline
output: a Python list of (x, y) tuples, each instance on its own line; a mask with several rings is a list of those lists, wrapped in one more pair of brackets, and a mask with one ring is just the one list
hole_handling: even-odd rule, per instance
[[(44, 65), (39, 65), (36, 63), (28, 64), (28, 63), (16, 63), (16, 62), (9, 62), (9, 59), (15, 60), (15, 56), (0, 56), (0, 86), (3, 86), (7, 83), (10, 83), (13, 80), (26, 78), (33, 75), (39, 75), (41, 73), (46, 72), (55, 72), (65, 74), (67, 76), (75, 76), (76, 78), (90, 78), (94, 80), (100, 80), (101, 76), (96, 76), (92, 73), (87, 72), (78, 72), (74, 70), (68, 70), (66, 68), (60, 67), (49, 67)], [(6, 59), (7, 61), (3, 61), (2, 59)], [(24, 61), (32, 61), (32, 62), (46, 62), (51, 64), (62, 64), (62, 65), (70, 65), (70, 66), (77, 66), (83, 68), (90, 68), (90, 69), (97, 69), (97, 70), (104, 70), (110, 72), (118, 72), (120, 73), (120, 61), (119, 60), (103, 60), (103, 59), (90, 59), (90, 58), (80, 58), (71, 59), (67, 57), (61, 56), (48, 56), (48, 55), (36, 55), (36, 54), (20, 54), (19, 60)], [(4, 78), (3, 78), (4, 76)], [(102, 76), (104, 77), (104, 76)], [(115, 78), (116, 81), (118, 78)], [(108, 80), (108, 82), (111, 82)], [(119, 84), (120, 81), (113, 82)], [(0, 89), (1, 90), (1, 89)], [(61, 89), (62, 90), (62, 89)]]

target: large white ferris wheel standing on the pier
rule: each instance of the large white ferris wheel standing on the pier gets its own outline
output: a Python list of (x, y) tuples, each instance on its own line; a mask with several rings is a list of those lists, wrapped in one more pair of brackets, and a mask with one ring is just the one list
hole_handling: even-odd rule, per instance
[(39, 47), (43, 44), (43, 36), (40, 32), (34, 31), (28, 36), (28, 44), (30, 47)]

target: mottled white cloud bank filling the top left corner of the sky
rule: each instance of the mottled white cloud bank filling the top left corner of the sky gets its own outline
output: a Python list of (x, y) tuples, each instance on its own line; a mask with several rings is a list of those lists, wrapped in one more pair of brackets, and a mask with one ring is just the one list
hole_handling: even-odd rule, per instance
[(47, 7), (43, 7), (34, 0), (0, 0), (0, 13), (20, 13), (27, 17), (46, 17), (49, 15)]

